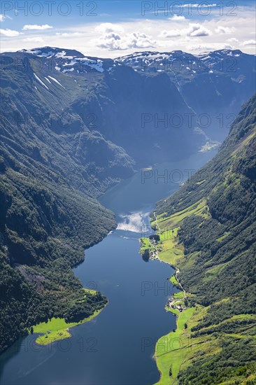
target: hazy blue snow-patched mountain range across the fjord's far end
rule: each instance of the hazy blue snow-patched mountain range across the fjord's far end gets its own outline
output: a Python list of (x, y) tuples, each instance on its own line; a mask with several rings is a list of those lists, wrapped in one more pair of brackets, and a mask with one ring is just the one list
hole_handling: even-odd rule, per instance
[(254, 93), (255, 55), (239, 50), (135, 52), (99, 59), (45, 47), (2, 54), (2, 62), (8, 57), (25, 69), (32, 63), (33, 85), (45, 97), (59, 92), (66, 99), (65, 83), (72, 95), (69, 113), (143, 166), (180, 157), (181, 143), (185, 153), (192, 153), (207, 141), (213, 146), (222, 141)]

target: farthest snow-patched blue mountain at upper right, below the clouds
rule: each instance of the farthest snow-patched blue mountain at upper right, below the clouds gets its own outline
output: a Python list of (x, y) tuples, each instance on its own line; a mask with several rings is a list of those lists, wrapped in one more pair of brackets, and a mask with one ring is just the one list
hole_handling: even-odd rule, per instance
[(223, 141), (241, 105), (255, 92), (255, 55), (240, 50), (217, 50), (192, 55), (134, 52), (116, 59), (139, 73), (166, 73), (213, 141)]

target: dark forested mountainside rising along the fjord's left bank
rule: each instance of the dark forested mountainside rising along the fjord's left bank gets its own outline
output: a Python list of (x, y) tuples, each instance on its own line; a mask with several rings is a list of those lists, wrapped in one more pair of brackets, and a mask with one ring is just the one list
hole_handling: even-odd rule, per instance
[(85, 300), (71, 267), (115, 228), (97, 197), (132, 175), (134, 161), (76, 113), (63, 113), (73, 98), (64, 86), (52, 80), (51, 92), (38, 92), (30, 64), (10, 61), (1, 72), (3, 351), (39, 321), (82, 319), (106, 304), (101, 294)]

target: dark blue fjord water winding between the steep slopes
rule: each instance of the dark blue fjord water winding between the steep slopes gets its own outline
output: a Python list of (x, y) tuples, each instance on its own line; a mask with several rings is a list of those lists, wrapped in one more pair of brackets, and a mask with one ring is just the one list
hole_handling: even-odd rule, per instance
[(150, 232), (148, 214), (155, 202), (174, 193), (213, 155), (198, 153), (138, 172), (101, 197), (115, 212), (118, 228), (85, 251), (85, 262), (74, 272), (85, 287), (104, 293), (108, 305), (94, 320), (72, 328), (69, 339), (38, 346), (36, 335), (29, 335), (13, 344), (0, 357), (1, 384), (144, 385), (159, 379), (155, 342), (175, 328), (176, 318), (164, 305), (176, 289), (167, 280), (173, 269), (145, 262), (138, 239)]

